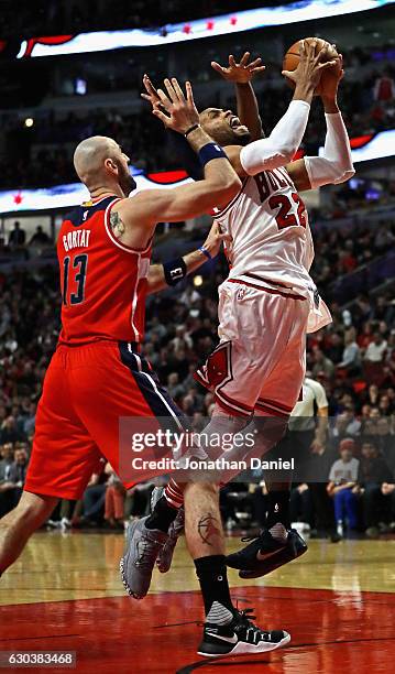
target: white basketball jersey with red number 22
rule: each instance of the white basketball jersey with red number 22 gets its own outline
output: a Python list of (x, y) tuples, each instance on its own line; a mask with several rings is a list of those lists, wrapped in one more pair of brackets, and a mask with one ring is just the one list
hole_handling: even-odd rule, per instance
[[(244, 178), (241, 192), (215, 213), (215, 219), (232, 237), (226, 249), (229, 279), (303, 295), (312, 311), (316, 296), (318, 311), (317, 289), (308, 273), (314, 259), (308, 215), (284, 167)], [(330, 322), (325, 309), (326, 320), (319, 322), (323, 325)]]

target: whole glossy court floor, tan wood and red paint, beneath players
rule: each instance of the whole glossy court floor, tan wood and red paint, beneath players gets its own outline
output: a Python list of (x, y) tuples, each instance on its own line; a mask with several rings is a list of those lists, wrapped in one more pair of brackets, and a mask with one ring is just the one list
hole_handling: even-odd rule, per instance
[[(229, 550), (238, 546), (228, 540)], [(84, 674), (394, 671), (395, 540), (311, 541), (301, 559), (257, 580), (230, 570), (239, 608), (254, 607), (261, 627), (285, 628), (292, 642), (216, 662), (196, 654), (202, 611), (184, 540), (142, 601), (124, 595), (122, 550), (117, 534), (35, 534), (0, 580), (0, 651), (72, 650)]]

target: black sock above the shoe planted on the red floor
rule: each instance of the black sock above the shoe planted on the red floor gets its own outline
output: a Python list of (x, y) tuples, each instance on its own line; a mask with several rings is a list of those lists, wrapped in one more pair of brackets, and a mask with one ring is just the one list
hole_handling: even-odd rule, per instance
[(209, 557), (195, 559), (196, 574), (200, 583), (206, 616), (215, 601), (218, 601), (233, 613), (224, 559), (224, 555), (210, 555)]

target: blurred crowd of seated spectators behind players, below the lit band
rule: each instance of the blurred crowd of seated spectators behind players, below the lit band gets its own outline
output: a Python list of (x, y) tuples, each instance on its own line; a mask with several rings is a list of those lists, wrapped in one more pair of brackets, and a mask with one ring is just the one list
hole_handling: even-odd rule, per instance
[[(388, 232), (393, 236), (391, 230)], [(316, 247), (316, 270), (321, 272), (320, 291), (325, 297), (336, 275), (352, 272), (383, 251), (378, 232), (367, 229), (352, 238), (341, 230), (318, 230)], [(343, 251), (347, 251), (345, 258)], [(326, 272), (325, 265), (329, 265), (331, 273)], [(202, 428), (213, 401), (212, 395), (195, 382), (194, 371), (218, 340), (217, 285), (224, 273), (223, 260), (217, 267), (208, 267), (200, 285), (187, 280), (180, 290), (164, 291), (149, 298), (144, 346), (161, 381), (191, 418), (196, 431)], [(317, 489), (296, 485), (293, 512), (295, 520), (301, 519), (312, 529), (323, 528), (334, 539), (340, 535), (337, 526), (342, 531), (343, 525), (378, 535), (389, 531), (395, 521), (395, 497), (392, 496), (395, 480), (395, 303), (391, 294), (375, 297), (360, 294), (349, 308), (340, 308), (334, 301), (330, 304), (333, 323), (309, 336), (307, 345), (308, 370), (325, 388), (329, 401), (327, 448), (322, 458), (327, 485), (323, 491), (318, 489), (318, 500)], [(0, 272), (2, 511), (10, 509), (21, 492), (36, 404), (45, 369), (56, 347), (58, 328), (59, 298), (54, 267), (25, 268), (7, 275)], [(338, 459), (347, 466), (332, 470)], [(339, 478), (342, 468), (344, 479)], [(127, 493), (111, 467), (103, 464), (102, 472), (92, 476), (84, 499), (78, 503), (63, 502), (52, 523), (63, 522), (64, 526), (105, 524), (121, 530), (124, 520), (149, 508), (152, 488), (153, 485), (142, 485)], [(242, 491), (238, 496), (240, 488)], [(344, 494), (337, 496), (342, 491)], [(230, 526), (259, 523), (264, 499), (264, 486), (242, 485), (230, 492), (226, 490), (222, 496), (224, 521)], [(327, 523), (319, 526), (319, 506), (325, 502), (331, 510), (332, 524), (328, 524), (327, 517)], [(340, 523), (337, 523), (339, 518), (333, 504), (338, 513), (344, 511), (344, 520)]]

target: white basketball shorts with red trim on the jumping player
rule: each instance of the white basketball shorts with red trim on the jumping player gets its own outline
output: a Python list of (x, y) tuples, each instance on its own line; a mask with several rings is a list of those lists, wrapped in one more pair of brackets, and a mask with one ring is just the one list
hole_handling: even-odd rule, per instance
[(288, 416), (306, 370), (309, 302), (226, 281), (219, 287), (220, 344), (196, 372), (227, 412)]

